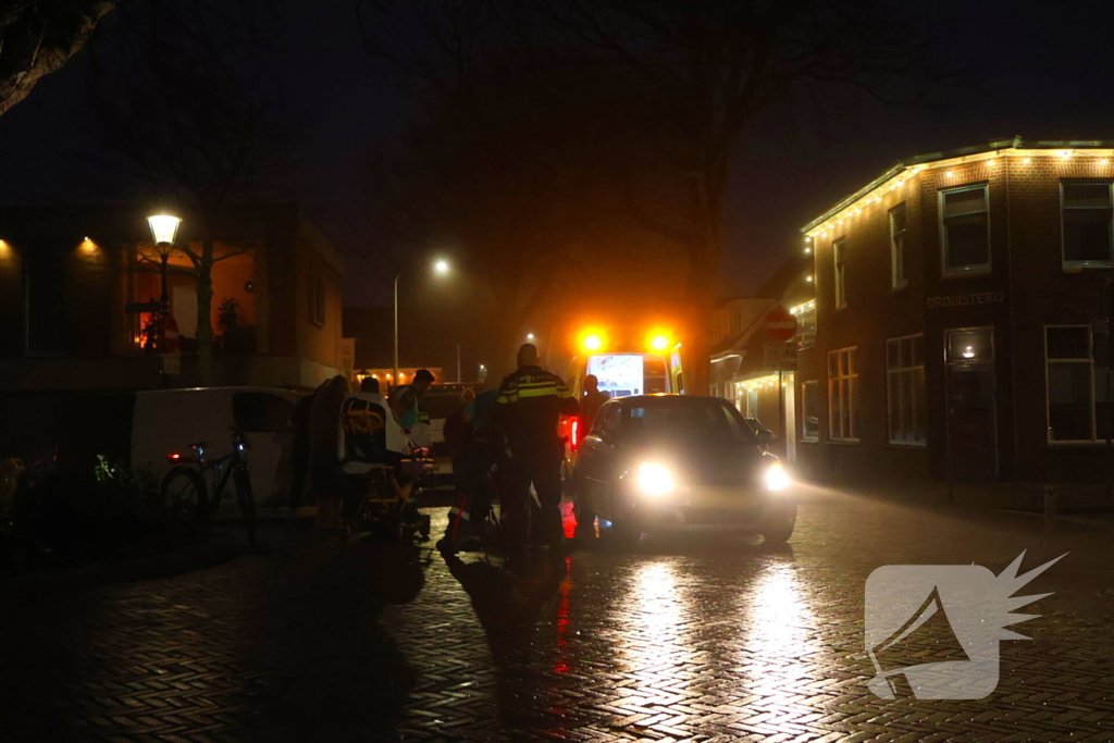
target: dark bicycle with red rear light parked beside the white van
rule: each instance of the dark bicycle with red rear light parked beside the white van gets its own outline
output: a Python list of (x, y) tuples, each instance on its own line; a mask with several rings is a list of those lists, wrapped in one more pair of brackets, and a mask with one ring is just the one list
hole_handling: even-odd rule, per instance
[[(167, 454), (167, 459), (177, 465), (163, 478), (160, 496), (163, 504), (172, 514), (179, 517), (203, 521), (221, 507), (225, 487), (231, 479), (236, 488), (236, 500), (244, 515), (244, 526), (247, 539), (255, 544), (255, 492), (252, 489), (252, 476), (247, 471), (247, 438), (235, 426), (232, 427), (232, 451), (216, 459), (205, 458), (205, 442), (189, 444), (193, 457), (180, 453)], [(206, 486), (204, 473), (209, 473), (211, 485)]]

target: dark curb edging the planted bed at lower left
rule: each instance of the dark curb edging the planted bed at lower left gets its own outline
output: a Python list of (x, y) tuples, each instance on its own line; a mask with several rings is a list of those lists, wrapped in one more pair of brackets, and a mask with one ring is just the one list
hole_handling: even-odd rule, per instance
[(235, 535), (214, 532), (201, 544), (158, 555), (0, 578), (0, 595), (26, 595), (165, 578), (215, 567), (241, 553)]

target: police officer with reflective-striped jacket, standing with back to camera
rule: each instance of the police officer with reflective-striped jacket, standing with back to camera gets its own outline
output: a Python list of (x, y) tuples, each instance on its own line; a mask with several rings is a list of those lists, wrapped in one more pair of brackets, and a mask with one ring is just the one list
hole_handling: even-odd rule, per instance
[(557, 423), (561, 416), (575, 416), (577, 409), (565, 382), (538, 365), (537, 348), (532, 343), (522, 345), (518, 350), (518, 371), (502, 380), (495, 410), (510, 449), (500, 499), (507, 556), (511, 560), (525, 554), (529, 539), (531, 483), (541, 506), (535, 532), (551, 548), (563, 544), (560, 465), (565, 444), (557, 436)]

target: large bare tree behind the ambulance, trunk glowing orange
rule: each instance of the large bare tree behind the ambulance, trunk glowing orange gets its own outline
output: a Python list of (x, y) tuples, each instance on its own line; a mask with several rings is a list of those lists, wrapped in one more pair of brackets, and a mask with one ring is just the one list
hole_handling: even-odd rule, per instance
[[(477, 100), (487, 60), (517, 50), (540, 74), (580, 65), (623, 81), (604, 106), (622, 157), (580, 194), (673, 242), (687, 258), (685, 365), (707, 389), (724, 197), (733, 155), (769, 109), (815, 86), (857, 86), (908, 100), (938, 77), (932, 45), (892, 0), (429, 0), (359, 3), (369, 49), (455, 106)], [(924, 28), (924, 25), (921, 25)], [(403, 32), (404, 31), (404, 32)], [(558, 53), (559, 52), (559, 53)], [(824, 88), (821, 87), (821, 90)], [(642, 158), (629, 157), (643, 146)], [(540, 145), (539, 140), (539, 146)], [(602, 148), (597, 149), (599, 151)], [(647, 174), (645, 165), (653, 168)], [(652, 176), (652, 177), (647, 177)], [(680, 208), (677, 208), (680, 207)]]

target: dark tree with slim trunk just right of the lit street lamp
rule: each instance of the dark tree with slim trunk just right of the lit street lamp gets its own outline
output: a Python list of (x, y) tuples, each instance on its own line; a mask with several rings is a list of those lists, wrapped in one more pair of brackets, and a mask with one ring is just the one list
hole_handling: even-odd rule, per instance
[(218, 244), (218, 215), (271, 189), (296, 139), (280, 95), (245, 72), (264, 6), (133, 0), (119, 11), (119, 38), (92, 48), (92, 108), (106, 149), (163, 203), (199, 217), (199, 246), (179, 250), (197, 280), (203, 379), (212, 373), (213, 266), (252, 247)]

